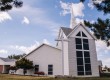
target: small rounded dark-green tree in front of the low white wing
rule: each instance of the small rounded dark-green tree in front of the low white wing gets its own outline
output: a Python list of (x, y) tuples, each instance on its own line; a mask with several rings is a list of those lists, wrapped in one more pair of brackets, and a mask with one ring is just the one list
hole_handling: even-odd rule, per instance
[(23, 74), (25, 75), (28, 69), (33, 68), (33, 61), (30, 61), (26, 58), (22, 58), (16, 61), (16, 67), (17, 69), (23, 69)]

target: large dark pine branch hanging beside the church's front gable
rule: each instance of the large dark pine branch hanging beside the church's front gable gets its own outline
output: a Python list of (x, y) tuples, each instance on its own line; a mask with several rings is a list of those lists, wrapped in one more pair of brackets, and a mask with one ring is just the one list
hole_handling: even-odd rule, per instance
[(110, 19), (102, 20), (98, 18), (95, 23), (84, 21), (84, 24), (93, 31), (97, 39), (105, 41), (107, 46), (110, 45)]

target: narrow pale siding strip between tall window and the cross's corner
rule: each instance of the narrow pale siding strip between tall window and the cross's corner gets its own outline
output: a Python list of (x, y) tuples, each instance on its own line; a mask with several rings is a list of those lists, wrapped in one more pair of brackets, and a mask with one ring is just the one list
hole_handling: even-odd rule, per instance
[(69, 75), (77, 76), (75, 38), (70, 37), (68, 43)]

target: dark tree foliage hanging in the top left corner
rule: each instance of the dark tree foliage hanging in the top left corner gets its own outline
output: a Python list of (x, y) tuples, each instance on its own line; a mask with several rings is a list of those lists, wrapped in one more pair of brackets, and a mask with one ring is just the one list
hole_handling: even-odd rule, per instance
[(0, 11), (9, 11), (13, 7), (19, 8), (23, 5), (19, 0), (0, 0)]

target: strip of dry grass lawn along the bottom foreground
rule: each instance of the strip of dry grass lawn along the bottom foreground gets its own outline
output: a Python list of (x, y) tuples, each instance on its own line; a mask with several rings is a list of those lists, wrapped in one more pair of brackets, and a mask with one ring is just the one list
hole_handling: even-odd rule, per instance
[(35, 76), (19, 76), (0, 74), (0, 80), (110, 80), (108, 77), (102, 78), (49, 78), (49, 77), (35, 77)]

